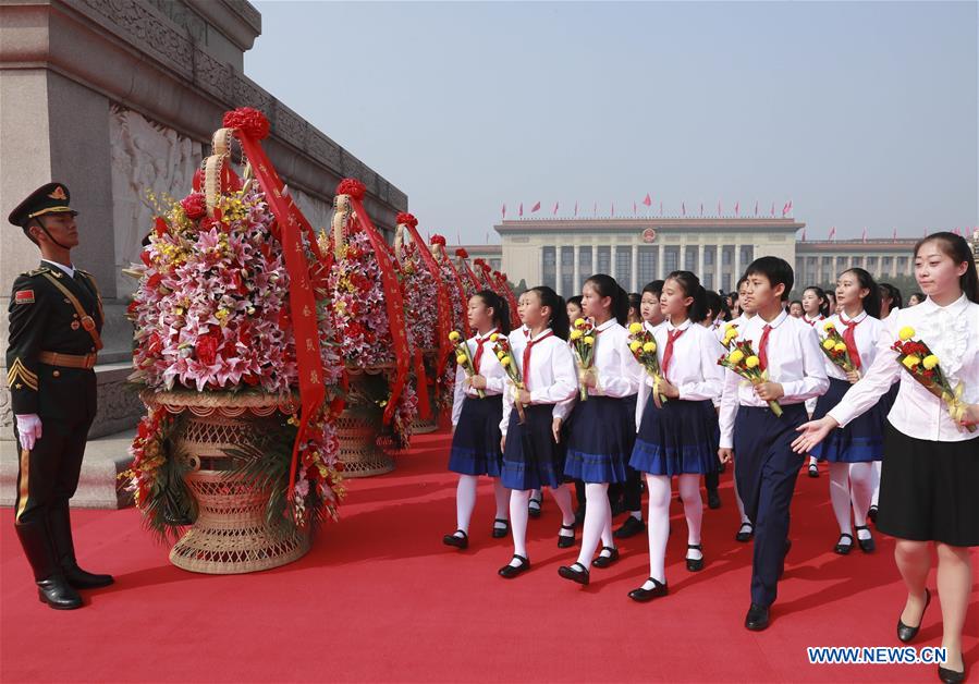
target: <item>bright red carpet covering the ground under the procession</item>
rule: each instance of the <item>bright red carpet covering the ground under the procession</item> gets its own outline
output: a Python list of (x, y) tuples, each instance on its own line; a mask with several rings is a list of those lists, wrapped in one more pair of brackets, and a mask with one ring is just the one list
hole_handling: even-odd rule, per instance
[[(112, 572), (83, 610), (42, 607), (7, 511), (2, 541), (3, 682), (93, 681), (935, 681), (934, 665), (811, 665), (806, 646), (897, 646), (905, 594), (893, 542), (849, 557), (836, 540), (825, 473), (799, 478), (785, 579), (772, 626), (744, 630), (750, 545), (734, 541), (731, 475), (724, 506), (705, 512), (706, 570), (683, 564), (686, 532), (674, 504), (671, 595), (626, 598), (648, 574), (646, 536), (582, 589), (558, 577), (551, 499), (530, 522), (531, 572), (504, 581), (509, 539), (489, 537), (492, 493), (480, 490), (469, 550), (441, 543), (455, 527), (448, 438), (420, 436), (387, 476), (351, 480), (340, 524), (285, 567), (194, 575), (140, 529), (138, 513), (76, 511), (82, 564)], [(979, 559), (976, 559), (979, 561)], [(934, 591), (934, 573), (929, 586)], [(979, 587), (966, 624), (966, 660), (979, 668)], [(916, 646), (939, 646), (929, 608)]]

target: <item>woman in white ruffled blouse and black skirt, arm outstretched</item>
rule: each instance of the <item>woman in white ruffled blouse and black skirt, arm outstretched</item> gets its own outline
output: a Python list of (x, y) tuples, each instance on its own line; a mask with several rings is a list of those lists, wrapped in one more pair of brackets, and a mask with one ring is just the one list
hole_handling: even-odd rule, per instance
[[(872, 408), (900, 378), (884, 436), (886, 466), (880, 491), (878, 528), (897, 537), (894, 559), (908, 597), (897, 637), (914, 640), (931, 599), (929, 542), (938, 552), (942, 594), (944, 682), (965, 680), (962, 628), (972, 588), (969, 547), (979, 546), (979, 277), (968, 243), (941, 232), (917, 244), (915, 278), (928, 298), (892, 314), (877, 357), (864, 377), (827, 416), (799, 428), (793, 448), (811, 449), (836, 426)], [(923, 342), (953, 387), (962, 383), (965, 411), (953, 418), (945, 403), (902, 369), (892, 349), (902, 329)], [(907, 331), (906, 331), (907, 334)]]

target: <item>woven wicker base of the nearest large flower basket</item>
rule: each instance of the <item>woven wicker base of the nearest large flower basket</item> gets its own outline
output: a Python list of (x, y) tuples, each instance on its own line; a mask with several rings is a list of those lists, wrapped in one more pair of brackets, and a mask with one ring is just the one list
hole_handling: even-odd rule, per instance
[(243, 474), (249, 464), (242, 454), (260, 454), (267, 444), (261, 418), (290, 415), (295, 404), (272, 394), (144, 392), (143, 399), (150, 410), (185, 414), (172, 443), (197, 518), (171, 549), (170, 562), (229, 575), (285, 565), (309, 550), (311, 526), (298, 527), (284, 516), (270, 520), (271, 485)]

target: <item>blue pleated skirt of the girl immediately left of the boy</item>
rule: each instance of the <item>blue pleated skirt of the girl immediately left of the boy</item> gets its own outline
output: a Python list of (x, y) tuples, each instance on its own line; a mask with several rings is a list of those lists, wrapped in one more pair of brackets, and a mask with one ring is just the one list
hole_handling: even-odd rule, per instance
[(650, 394), (629, 465), (650, 475), (718, 471), (720, 428), (710, 400), (671, 399), (658, 408)]

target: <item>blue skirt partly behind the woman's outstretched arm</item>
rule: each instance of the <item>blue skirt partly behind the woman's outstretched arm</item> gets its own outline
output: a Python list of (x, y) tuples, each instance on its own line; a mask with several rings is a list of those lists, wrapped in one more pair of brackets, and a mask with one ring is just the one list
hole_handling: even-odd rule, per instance
[[(812, 419), (818, 420), (832, 411), (850, 387), (846, 380), (830, 378), (830, 389), (816, 402)], [(880, 461), (884, 455), (884, 419), (892, 402), (890, 392), (881, 396), (864, 415), (854, 418), (846, 427), (830, 432), (812, 449), (812, 455), (830, 463)]]

